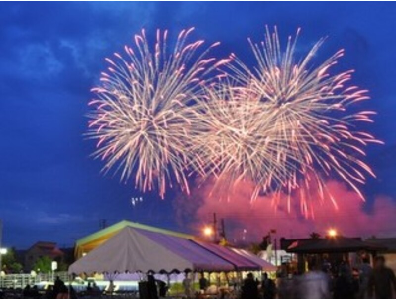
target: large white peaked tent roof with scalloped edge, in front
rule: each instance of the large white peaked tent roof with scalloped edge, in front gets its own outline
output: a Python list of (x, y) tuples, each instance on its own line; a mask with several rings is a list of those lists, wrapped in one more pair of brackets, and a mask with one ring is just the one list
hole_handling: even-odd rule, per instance
[(70, 274), (233, 271), (234, 266), (189, 239), (125, 227), (69, 267)]

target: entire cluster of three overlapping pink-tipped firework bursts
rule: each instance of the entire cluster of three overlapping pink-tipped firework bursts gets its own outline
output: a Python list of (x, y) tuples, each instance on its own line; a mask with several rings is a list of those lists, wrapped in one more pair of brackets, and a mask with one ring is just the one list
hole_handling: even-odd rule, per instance
[(263, 42), (249, 41), (257, 61), (249, 68), (235, 55), (208, 58), (219, 43), (200, 51), (203, 41), (188, 42), (192, 30), (180, 33), (170, 53), (167, 31), (157, 31), (153, 51), (143, 31), (133, 48), (125, 47), (125, 59), (118, 53), (107, 59), (110, 67), (93, 89), (88, 133), (105, 171), (134, 176), (136, 187), (156, 187), (162, 197), (175, 181), (189, 193), (192, 172), (214, 176), (225, 194), (248, 181), (255, 185), (252, 200), (274, 192), (274, 207), (287, 198), (290, 209), (298, 193), (312, 217), (312, 189), (338, 207), (325, 183), (333, 176), (363, 198), (360, 185), (374, 176), (362, 161), (364, 148), (381, 142), (357, 130), (375, 113), (351, 110), (369, 98), (350, 84), (353, 71), (330, 72), (343, 50), (314, 67), (324, 39), (296, 61), (299, 30), (283, 50), (276, 28), (267, 28)]

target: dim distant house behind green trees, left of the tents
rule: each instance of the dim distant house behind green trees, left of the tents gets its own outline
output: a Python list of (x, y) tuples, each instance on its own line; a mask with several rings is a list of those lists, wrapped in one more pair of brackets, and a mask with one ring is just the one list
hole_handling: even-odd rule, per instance
[(36, 261), (44, 256), (61, 263), (64, 255), (64, 252), (57, 247), (56, 243), (37, 242), (25, 253), (25, 271), (33, 270)]

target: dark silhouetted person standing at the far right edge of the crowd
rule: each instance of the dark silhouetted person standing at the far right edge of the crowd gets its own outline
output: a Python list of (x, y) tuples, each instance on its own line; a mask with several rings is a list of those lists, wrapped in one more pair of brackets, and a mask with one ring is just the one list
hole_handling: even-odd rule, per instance
[(396, 292), (395, 273), (385, 265), (383, 256), (377, 256), (368, 281), (368, 296), (369, 298), (393, 298), (393, 290)]

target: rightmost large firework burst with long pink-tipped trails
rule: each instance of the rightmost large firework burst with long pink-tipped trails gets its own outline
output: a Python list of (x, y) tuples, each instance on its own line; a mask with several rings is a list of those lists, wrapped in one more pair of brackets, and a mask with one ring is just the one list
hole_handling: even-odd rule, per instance
[[(229, 184), (241, 179), (252, 179), (257, 184), (256, 190), (261, 188), (264, 192), (285, 192), (289, 195), (299, 189), (301, 209), (305, 215), (313, 216), (310, 204), (313, 199), (307, 196), (310, 192), (306, 191), (313, 185), (317, 187), (322, 200), (330, 197), (337, 208), (337, 202), (327, 193), (324, 183), (332, 175), (342, 179), (364, 199), (359, 185), (365, 183), (366, 174), (374, 176), (374, 173), (360, 157), (365, 155), (363, 148), (368, 143), (382, 142), (368, 133), (356, 130), (357, 122), (372, 122), (370, 117), (374, 112), (358, 111), (349, 114), (349, 106), (369, 99), (367, 90), (349, 85), (353, 71), (337, 74), (329, 72), (344, 55), (344, 51), (340, 50), (313, 68), (312, 59), (324, 42), (321, 39), (305, 57), (296, 62), (298, 34), (299, 30), (296, 38), (289, 37), (285, 50), (281, 48), (276, 28), (271, 33), (267, 27), (265, 40), (260, 44), (249, 40), (257, 61), (253, 69), (231, 55), (235, 62), (227, 64), (226, 72), (239, 86), (238, 101), (241, 105), (260, 106), (254, 109), (261, 110), (262, 113), (256, 113), (256, 122), (251, 121), (251, 126), (247, 128), (247, 131), (255, 132), (255, 138), (248, 141), (239, 136), (231, 142), (239, 144), (238, 148), (243, 149), (244, 153), (236, 150), (226, 154), (221, 152), (228, 156), (227, 159), (238, 161), (233, 169), (228, 164), (223, 165), (223, 158), (210, 160), (213, 157), (209, 157), (208, 164), (216, 163), (217, 167), (212, 168), (216, 177), (225, 177), (230, 172), (239, 175), (236, 180), (235, 176), (229, 176)], [(230, 84), (230, 81), (224, 80), (223, 84)], [(244, 95), (241, 96), (241, 93)], [(216, 96), (213, 99), (212, 106), (224, 105), (221, 101), (216, 101)], [(234, 117), (244, 118), (245, 112), (241, 111), (241, 115)], [(233, 125), (227, 118), (228, 116), (223, 122)], [(255, 131), (258, 128), (260, 131)], [(223, 140), (218, 142), (224, 142), (228, 138), (221, 128), (213, 125), (213, 129), (217, 134), (211, 132), (210, 136)], [(222, 137), (219, 138), (218, 135)], [(263, 139), (266, 142), (262, 143)], [(246, 142), (249, 142), (248, 146), (245, 145)], [(257, 157), (261, 153), (266, 153), (262, 156), (263, 159), (267, 159), (268, 154), (273, 157), (259, 165), (241, 158), (243, 155), (247, 159)], [(280, 164), (281, 167), (275, 164)], [(254, 191), (252, 199), (257, 194)], [(280, 197), (274, 196), (274, 205), (279, 204)], [(290, 202), (287, 205), (290, 207)]]

